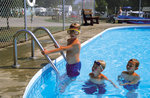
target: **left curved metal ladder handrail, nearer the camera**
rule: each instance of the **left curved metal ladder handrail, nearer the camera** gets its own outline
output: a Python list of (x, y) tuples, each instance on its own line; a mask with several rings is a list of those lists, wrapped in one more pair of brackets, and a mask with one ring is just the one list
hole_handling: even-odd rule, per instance
[[(17, 37), (19, 36), (19, 34), (21, 34), (21, 33), (28, 33), (29, 35), (31, 35), (31, 37), (36, 41), (36, 43), (38, 44), (38, 46), (39, 46), (39, 48), (40, 48), (40, 50), (41, 51), (44, 51), (44, 48), (42, 47), (42, 45), (40, 44), (40, 42), (38, 41), (38, 39), (36, 38), (36, 36), (31, 32), (31, 31), (29, 31), (29, 30), (19, 30), (19, 31), (17, 31), (16, 32), (16, 34), (13, 36), (14, 37), (14, 40), (13, 40), (13, 42), (14, 42), (14, 44), (13, 44), (13, 55), (14, 55), (14, 65), (13, 65), (13, 67), (19, 67), (20, 65), (18, 64), (18, 62), (17, 62)], [(59, 71), (58, 71), (58, 69), (56, 68), (56, 66), (53, 64), (53, 62), (52, 62), (52, 60), (49, 58), (49, 56), (48, 55), (44, 55), (45, 56), (45, 58), (47, 59), (47, 61), (48, 62), (50, 62), (50, 64), (51, 64), (51, 67), (55, 70), (55, 72), (56, 73), (58, 73), (59, 74)]]

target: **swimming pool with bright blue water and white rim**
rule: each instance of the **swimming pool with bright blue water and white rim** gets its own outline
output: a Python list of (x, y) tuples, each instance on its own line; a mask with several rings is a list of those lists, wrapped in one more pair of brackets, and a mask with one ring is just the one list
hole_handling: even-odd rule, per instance
[[(81, 74), (77, 80), (72, 82), (60, 94), (56, 92), (56, 75), (50, 65), (43, 69), (31, 79), (24, 93), (24, 98), (122, 98), (132, 96), (135, 98), (150, 97), (150, 26), (117, 27), (110, 28), (86, 41), (81, 49)], [(126, 70), (129, 59), (136, 58), (140, 62), (139, 69), (136, 71), (140, 75), (140, 85), (136, 92), (128, 94), (128, 91), (117, 82), (118, 75)], [(119, 89), (114, 88), (106, 82), (106, 93), (103, 95), (86, 94), (82, 89), (85, 82), (89, 79), (88, 74), (94, 60), (104, 60), (106, 68), (102, 72), (112, 80)], [(60, 74), (65, 73), (65, 61), (62, 57), (55, 61)]]

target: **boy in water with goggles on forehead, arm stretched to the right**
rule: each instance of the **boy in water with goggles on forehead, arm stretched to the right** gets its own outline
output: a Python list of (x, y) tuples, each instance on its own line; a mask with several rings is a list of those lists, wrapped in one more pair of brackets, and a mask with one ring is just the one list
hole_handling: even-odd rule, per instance
[(106, 92), (104, 83), (105, 80), (109, 81), (114, 87), (118, 88), (111, 80), (101, 73), (105, 67), (106, 63), (103, 60), (94, 61), (92, 72), (89, 74), (90, 79), (86, 82), (86, 85), (83, 85), (83, 90), (87, 94), (97, 92), (97, 88), (99, 90), (99, 94), (104, 94)]

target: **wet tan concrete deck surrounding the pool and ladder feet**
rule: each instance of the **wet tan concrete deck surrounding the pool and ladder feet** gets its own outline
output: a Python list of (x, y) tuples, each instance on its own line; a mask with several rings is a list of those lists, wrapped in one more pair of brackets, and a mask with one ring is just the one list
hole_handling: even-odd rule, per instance
[[(115, 26), (127, 26), (132, 24), (109, 24), (102, 23), (94, 24), (94, 26), (82, 26), (79, 39), (81, 43), (92, 38), (103, 30)], [(54, 38), (60, 45), (66, 45), (68, 38), (66, 31), (53, 34)], [(45, 36), (39, 38), (41, 44), (46, 49), (53, 49), (53, 43), (49, 37)], [(12, 68), (13, 65), (13, 47), (0, 49), (0, 98), (22, 98), (25, 88), (34, 76), (34, 74), (48, 62), (41, 55), (37, 45), (35, 46), (35, 59), (30, 59), (31, 43), (21, 43), (18, 45), (18, 64), (21, 65), (19, 69)], [(56, 59), (60, 56), (59, 53), (50, 54), (50, 58)]]

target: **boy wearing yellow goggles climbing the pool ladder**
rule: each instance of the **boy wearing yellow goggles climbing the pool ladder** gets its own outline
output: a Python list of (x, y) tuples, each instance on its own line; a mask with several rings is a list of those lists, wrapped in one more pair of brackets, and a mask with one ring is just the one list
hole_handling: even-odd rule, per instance
[(67, 46), (60, 46), (60, 48), (54, 50), (44, 50), (42, 54), (49, 54), (54, 52), (66, 51), (66, 70), (68, 79), (63, 81), (60, 88), (61, 92), (64, 92), (67, 85), (72, 81), (76, 80), (76, 77), (80, 74), (81, 62), (80, 62), (80, 49), (81, 43), (78, 40), (77, 36), (80, 33), (80, 25), (77, 23), (72, 23), (67, 30), (67, 33), (70, 35), (70, 38), (67, 40)]

